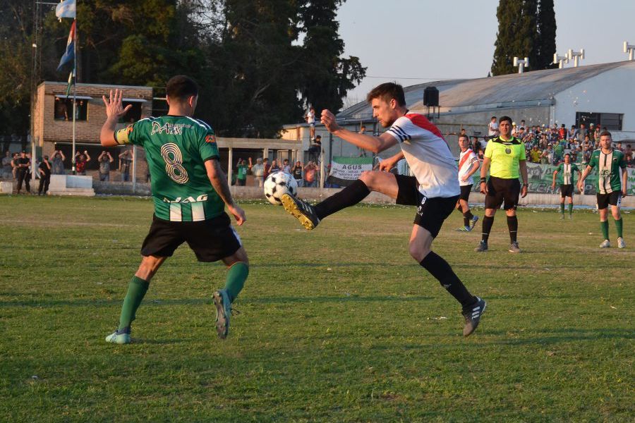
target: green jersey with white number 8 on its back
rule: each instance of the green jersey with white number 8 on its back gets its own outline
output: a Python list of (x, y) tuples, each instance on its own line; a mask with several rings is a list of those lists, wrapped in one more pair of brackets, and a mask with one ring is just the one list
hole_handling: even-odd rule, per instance
[(207, 123), (187, 116), (145, 118), (116, 131), (115, 140), (145, 149), (159, 219), (203, 221), (224, 212), (205, 169), (205, 161), (219, 158)]

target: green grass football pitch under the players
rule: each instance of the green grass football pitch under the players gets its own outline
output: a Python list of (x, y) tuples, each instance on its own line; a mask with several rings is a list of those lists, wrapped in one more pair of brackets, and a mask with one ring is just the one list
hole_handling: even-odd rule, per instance
[(229, 338), (210, 300), (226, 272), (183, 245), (134, 343), (108, 345), (150, 200), (0, 197), (0, 421), (634, 421), (633, 214), (627, 249), (599, 250), (597, 214), (523, 209), (521, 255), (503, 214), (483, 255), (453, 214), (434, 249), (488, 300), (464, 338), (458, 303), (408, 255), (413, 208), (353, 207), (307, 232), (282, 207), (243, 207), (250, 277)]

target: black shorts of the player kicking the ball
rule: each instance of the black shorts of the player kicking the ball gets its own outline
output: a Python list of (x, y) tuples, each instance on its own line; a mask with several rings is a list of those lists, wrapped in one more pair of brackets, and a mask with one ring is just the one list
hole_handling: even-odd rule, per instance
[(395, 178), (399, 186), (397, 204), (417, 206), (413, 223), (426, 229), (433, 238), (436, 238), (441, 231), (443, 221), (454, 212), (459, 195), (428, 198), (419, 192), (419, 183), (414, 176), (395, 175)]

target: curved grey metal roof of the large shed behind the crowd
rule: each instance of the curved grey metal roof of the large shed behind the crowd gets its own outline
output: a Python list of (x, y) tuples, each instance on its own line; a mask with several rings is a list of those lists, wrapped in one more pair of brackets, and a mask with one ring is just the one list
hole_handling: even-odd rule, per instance
[[(583, 80), (593, 78), (621, 66), (635, 68), (635, 61), (601, 63), (578, 68), (548, 69), (526, 73), (500, 75), (471, 80), (444, 80), (404, 87), (409, 109), (421, 111), (423, 90), (434, 86), (439, 90), (439, 103), (443, 108), (486, 106), (518, 102), (550, 101), (555, 94), (567, 90)], [(366, 102), (344, 109), (338, 118), (367, 118), (372, 116)]]

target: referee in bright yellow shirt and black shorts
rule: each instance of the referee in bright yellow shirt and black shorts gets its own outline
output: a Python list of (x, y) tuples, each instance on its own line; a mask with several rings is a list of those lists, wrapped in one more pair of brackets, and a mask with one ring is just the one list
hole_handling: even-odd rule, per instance
[[(488, 238), (494, 223), (496, 209), (504, 204), (503, 209), (507, 214), (507, 227), (509, 228), (509, 252), (521, 252), (516, 240), (518, 232), (518, 218), (516, 207), (519, 195), (526, 197), (528, 178), (527, 163), (525, 157), (525, 145), (521, 140), (512, 137), (512, 118), (503, 116), (498, 123), (500, 135), (492, 138), (485, 148), (483, 165), (480, 166), (480, 192), (485, 194), (485, 217), (483, 218), (483, 238), (476, 252), (488, 250)], [(490, 168), (491, 167), (491, 168)], [(490, 179), (486, 176), (490, 170)], [(523, 187), (519, 182), (519, 171), (523, 176)]]

